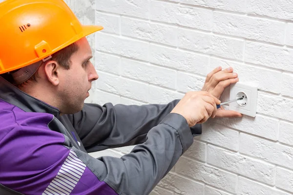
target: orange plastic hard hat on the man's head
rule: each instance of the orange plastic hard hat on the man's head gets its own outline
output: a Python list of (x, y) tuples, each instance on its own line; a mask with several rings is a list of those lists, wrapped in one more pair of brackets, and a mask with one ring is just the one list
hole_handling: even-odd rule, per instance
[(46, 59), (102, 29), (82, 25), (63, 0), (4, 0), (0, 3), (0, 74)]

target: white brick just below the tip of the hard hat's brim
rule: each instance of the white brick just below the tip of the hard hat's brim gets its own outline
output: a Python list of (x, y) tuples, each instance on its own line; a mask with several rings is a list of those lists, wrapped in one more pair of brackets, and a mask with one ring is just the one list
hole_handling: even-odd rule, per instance
[(148, 43), (103, 33), (96, 34), (96, 49), (133, 59), (148, 60)]

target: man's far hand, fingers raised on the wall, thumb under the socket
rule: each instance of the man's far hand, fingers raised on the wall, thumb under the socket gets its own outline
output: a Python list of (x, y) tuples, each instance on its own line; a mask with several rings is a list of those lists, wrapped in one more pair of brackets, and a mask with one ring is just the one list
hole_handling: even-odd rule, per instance
[[(226, 87), (238, 81), (238, 75), (237, 73), (233, 73), (232, 67), (224, 70), (222, 70), (222, 67), (218, 67), (208, 74), (202, 91), (208, 91), (214, 97), (220, 98)], [(217, 110), (215, 117), (242, 117), (242, 115), (236, 111), (224, 110), (221, 106)]]

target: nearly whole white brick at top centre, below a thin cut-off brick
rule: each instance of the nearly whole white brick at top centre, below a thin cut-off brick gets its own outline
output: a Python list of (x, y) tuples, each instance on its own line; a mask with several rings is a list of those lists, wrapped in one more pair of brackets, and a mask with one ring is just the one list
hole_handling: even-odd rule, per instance
[(212, 11), (162, 1), (152, 1), (150, 19), (191, 28), (211, 30)]

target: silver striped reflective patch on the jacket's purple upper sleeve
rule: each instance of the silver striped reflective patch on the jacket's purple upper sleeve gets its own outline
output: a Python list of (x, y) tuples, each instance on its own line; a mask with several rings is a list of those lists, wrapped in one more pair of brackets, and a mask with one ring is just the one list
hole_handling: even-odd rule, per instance
[(51, 181), (42, 195), (70, 195), (81, 176), (85, 164), (76, 156), (73, 150), (61, 166), (57, 176)]

